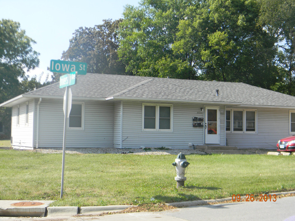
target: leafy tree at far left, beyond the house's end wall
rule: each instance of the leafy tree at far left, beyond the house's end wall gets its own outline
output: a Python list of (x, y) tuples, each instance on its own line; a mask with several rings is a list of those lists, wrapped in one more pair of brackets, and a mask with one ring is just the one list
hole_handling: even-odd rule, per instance
[[(19, 95), (20, 81), (28, 80), (25, 70), (39, 65), (38, 53), (33, 50), (33, 39), (26, 36), (20, 24), (11, 20), (0, 21), (0, 103)], [(10, 136), (10, 108), (0, 109), (0, 121), (5, 127), (5, 136)]]

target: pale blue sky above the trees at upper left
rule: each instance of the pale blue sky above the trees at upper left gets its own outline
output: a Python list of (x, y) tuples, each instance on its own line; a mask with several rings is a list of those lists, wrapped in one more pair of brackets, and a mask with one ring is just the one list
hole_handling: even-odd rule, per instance
[[(27, 74), (44, 82), (50, 60), (61, 58), (69, 40), (79, 27), (94, 27), (103, 19), (123, 18), (124, 6), (138, 6), (140, 0), (0, 0), (0, 18), (20, 23), (26, 35), (36, 41), (33, 50), (40, 53), (39, 68)], [(50, 80), (50, 79), (49, 79)]]

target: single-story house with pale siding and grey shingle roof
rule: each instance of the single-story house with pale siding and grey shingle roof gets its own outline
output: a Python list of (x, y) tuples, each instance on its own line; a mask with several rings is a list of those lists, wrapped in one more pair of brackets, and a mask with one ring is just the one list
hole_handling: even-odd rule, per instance
[[(86, 74), (71, 90), (72, 148), (275, 148), (295, 134), (295, 97), (245, 83)], [(0, 104), (15, 149), (62, 147), (64, 93), (55, 83)]]

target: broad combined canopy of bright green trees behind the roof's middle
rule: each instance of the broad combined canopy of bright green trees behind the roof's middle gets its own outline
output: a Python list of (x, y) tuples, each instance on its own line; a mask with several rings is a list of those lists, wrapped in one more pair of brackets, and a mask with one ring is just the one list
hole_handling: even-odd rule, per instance
[(276, 39), (256, 0), (144, 0), (127, 6), (118, 54), (135, 75), (277, 82)]

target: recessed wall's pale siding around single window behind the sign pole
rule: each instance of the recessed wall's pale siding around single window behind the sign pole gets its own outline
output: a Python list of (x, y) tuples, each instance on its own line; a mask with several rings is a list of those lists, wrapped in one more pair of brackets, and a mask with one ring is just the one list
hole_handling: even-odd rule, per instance
[[(39, 115), (39, 148), (62, 147), (62, 100), (42, 99)], [(79, 101), (73, 101), (73, 103)], [(69, 129), (66, 148), (112, 147), (113, 103), (85, 101), (84, 130)]]

